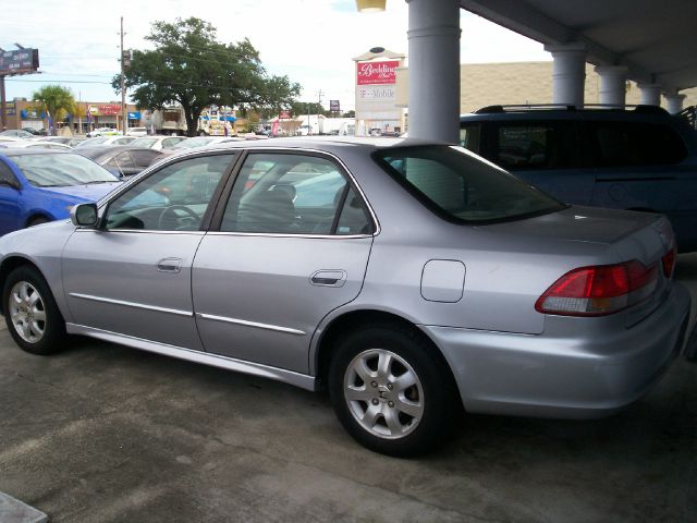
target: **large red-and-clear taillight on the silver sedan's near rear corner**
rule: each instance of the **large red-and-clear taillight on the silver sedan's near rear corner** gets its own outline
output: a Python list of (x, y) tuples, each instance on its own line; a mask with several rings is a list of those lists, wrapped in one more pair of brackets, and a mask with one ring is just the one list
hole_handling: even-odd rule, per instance
[(629, 307), (651, 295), (658, 266), (632, 260), (571, 270), (542, 294), (535, 308), (562, 316), (603, 316)]

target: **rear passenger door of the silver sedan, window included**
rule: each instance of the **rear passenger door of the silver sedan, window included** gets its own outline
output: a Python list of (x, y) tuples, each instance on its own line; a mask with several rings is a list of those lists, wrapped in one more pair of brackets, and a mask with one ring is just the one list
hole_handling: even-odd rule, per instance
[(363, 285), (376, 226), (356, 186), (326, 156), (250, 153), (216, 220), (193, 268), (205, 349), (308, 373), (318, 324)]

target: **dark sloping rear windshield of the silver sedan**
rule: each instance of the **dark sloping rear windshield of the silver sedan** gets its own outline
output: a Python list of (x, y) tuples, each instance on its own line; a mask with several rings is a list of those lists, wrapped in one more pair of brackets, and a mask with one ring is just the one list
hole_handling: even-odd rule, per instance
[(425, 206), (455, 223), (493, 223), (566, 208), (462, 147), (389, 148), (375, 159)]

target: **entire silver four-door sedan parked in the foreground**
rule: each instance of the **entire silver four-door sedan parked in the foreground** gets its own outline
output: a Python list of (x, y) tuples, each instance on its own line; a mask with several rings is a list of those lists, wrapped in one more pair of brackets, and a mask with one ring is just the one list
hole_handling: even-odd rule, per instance
[(237, 142), (0, 239), (2, 313), (309, 390), (392, 454), (470, 413), (585, 418), (678, 354), (689, 299), (659, 215), (571, 207), (416, 141)]

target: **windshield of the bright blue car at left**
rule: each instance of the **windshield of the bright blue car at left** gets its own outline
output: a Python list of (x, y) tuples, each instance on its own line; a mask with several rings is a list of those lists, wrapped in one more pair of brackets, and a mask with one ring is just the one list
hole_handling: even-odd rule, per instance
[(37, 187), (118, 182), (118, 179), (105, 168), (80, 155), (14, 155), (11, 160), (20, 168), (24, 178)]

